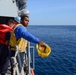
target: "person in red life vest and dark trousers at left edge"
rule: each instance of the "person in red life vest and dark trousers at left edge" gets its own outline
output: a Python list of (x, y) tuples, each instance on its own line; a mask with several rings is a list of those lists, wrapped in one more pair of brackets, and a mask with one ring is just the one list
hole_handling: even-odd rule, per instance
[[(13, 20), (9, 20), (9, 25), (14, 24)], [(8, 25), (0, 25), (0, 74), (5, 75), (9, 64), (8, 42), (11, 36), (12, 28)]]

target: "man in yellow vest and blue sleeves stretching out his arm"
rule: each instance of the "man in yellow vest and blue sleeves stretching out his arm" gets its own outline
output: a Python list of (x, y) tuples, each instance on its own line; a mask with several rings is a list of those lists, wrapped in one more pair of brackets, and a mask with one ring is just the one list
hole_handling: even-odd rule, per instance
[(21, 56), (21, 60), (23, 63), (23, 56), (25, 53), (25, 48), (27, 47), (27, 41), (38, 43), (41, 46), (45, 46), (44, 42), (41, 41), (39, 38), (32, 35), (30, 32), (26, 30), (26, 27), (29, 23), (29, 16), (21, 15), (21, 20), (19, 21), (20, 17), (15, 17), (16, 26), (11, 34), (10, 38), (10, 49), (11, 49), (11, 56), (15, 55), (15, 46), (19, 47), (19, 52)]

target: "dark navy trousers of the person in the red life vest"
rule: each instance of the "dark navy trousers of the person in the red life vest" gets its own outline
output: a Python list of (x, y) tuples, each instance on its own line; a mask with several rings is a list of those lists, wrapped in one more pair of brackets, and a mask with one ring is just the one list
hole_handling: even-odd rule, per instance
[(0, 44), (0, 73), (6, 73), (9, 60), (8, 60), (8, 46)]

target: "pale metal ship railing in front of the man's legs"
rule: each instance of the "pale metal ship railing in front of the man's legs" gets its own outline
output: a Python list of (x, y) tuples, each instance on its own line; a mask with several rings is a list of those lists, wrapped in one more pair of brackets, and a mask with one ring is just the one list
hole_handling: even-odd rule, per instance
[[(30, 63), (31, 63), (31, 52), (30, 52), (30, 49), (32, 50), (32, 65), (33, 67), (30, 66)], [(34, 65), (34, 46), (30, 46), (30, 42), (28, 42), (28, 47), (27, 47), (27, 52), (25, 53), (25, 62), (24, 64), (27, 65), (27, 75), (31, 75), (31, 68), (34, 70), (35, 69), (35, 65)], [(17, 58), (18, 57), (18, 60), (19, 62), (17, 61)], [(20, 58), (20, 55), (19, 55), (19, 49), (18, 49), (18, 46), (16, 46), (16, 53), (15, 53), (15, 56), (14, 57), (11, 57), (11, 60), (13, 61), (13, 75), (26, 75), (25, 71), (24, 71), (24, 68), (22, 67), (21, 69), (21, 72), (19, 70), (19, 67), (18, 65), (21, 67), (21, 58)]]

